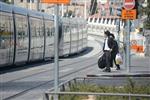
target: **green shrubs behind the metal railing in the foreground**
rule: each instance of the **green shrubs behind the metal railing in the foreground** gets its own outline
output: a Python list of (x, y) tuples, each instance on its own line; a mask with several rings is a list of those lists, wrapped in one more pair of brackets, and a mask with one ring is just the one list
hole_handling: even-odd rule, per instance
[[(97, 92), (97, 93), (133, 93), (133, 94), (150, 94), (150, 84), (137, 85), (132, 78), (124, 86), (98, 86), (88, 83), (72, 84), (66, 91), (70, 92)], [(87, 95), (61, 95), (60, 100), (88, 100)], [(96, 100), (129, 100), (124, 96), (96, 96)], [(144, 97), (131, 97), (131, 100), (149, 100)]]

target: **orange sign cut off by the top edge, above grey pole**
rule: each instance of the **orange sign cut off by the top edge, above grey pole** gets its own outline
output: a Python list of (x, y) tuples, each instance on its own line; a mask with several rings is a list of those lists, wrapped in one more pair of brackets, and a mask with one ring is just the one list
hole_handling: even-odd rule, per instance
[(49, 4), (69, 4), (70, 0), (41, 0), (41, 3)]

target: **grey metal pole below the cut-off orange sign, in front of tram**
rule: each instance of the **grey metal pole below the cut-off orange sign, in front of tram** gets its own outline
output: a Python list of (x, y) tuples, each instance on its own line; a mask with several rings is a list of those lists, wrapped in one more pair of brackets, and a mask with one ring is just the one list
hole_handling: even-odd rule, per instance
[[(54, 42), (55, 42), (55, 48), (54, 48), (54, 50), (55, 50), (55, 63), (54, 63), (54, 91), (55, 91), (55, 93), (57, 93), (58, 92), (58, 79), (59, 79), (59, 62), (58, 62), (58, 54), (59, 54), (59, 50), (58, 50), (58, 12), (59, 12), (59, 5), (58, 4), (56, 4), (55, 5), (55, 27), (56, 27), (56, 30), (55, 30), (55, 40), (54, 40)], [(56, 95), (54, 95), (54, 100), (58, 100), (58, 94), (56, 94)]]

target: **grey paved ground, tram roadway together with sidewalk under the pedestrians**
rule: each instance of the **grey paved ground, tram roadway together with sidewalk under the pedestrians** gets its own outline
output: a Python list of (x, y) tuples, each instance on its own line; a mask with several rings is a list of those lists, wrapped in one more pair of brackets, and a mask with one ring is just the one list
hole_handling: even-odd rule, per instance
[[(150, 58), (132, 54), (130, 71), (121, 65), (121, 70), (111, 68), (110, 73), (103, 72), (97, 66), (102, 55), (102, 41), (90, 38), (88, 50), (59, 62), (59, 83), (75, 77), (113, 76), (113, 75), (149, 75)], [(0, 100), (43, 100), (43, 94), (54, 85), (54, 63), (35, 65), (0, 75)], [(149, 76), (147, 77), (149, 78)], [(149, 80), (147, 80), (149, 81)]]

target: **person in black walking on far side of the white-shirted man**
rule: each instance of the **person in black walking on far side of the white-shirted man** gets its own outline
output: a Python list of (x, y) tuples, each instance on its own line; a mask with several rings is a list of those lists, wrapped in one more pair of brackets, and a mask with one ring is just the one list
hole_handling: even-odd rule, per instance
[(115, 40), (115, 36), (114, 34), (110, 34), (109, 36), (110, 38), (112, 38), (113, 41), (113, 47), (112, 47), (112, 51), (111, 51), (111, 64), (110, 66), (113, 67), (113, 62), (115, 63), (116, 66), (116, 70), (120, 70), (120, 65), (116, 63), (116, 55), (117, 53), (119, 53), (119, 46), (117, 41)]

